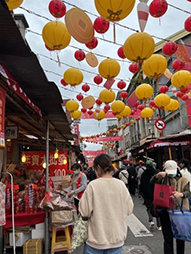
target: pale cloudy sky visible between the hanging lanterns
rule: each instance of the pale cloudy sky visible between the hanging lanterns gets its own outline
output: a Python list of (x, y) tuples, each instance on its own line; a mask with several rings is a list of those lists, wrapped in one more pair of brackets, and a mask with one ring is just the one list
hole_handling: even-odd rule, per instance
[[(150, 5), (151, 2), (152, 1), (149, 0), (147, 4)], [(165, 39), (179, 30), (184, 29), (184, 21), (191, 16), (191, 2), (187, 0), (168, 0), (167, 2), (168, 9), (166, 13), (160, 18), (154, 18), (149, 15), (147, 25), (144, 30), (144, 32), (147, 32), (153, 37), (155, 43), (160, 41), (160, 39), (157, 38)], [(117, 50), (124, 44), (125, 40), (132, 33), (135, 33), (135, 31), (140, 31), (137, 16), (137, 4), (139, 1), (136, 0), (133, 10), (128, 16), (116, 24), (116, 43), (114, 43), (113, 24), (110, 23), (110, 28), (105, 34), (98, 34), (95, 32), (95, 37), (98, 39), (98, 46), (95, 49), (90, 50), (84, 44), (79, 43), (74, 38), (71, 38), (69, 46), (58, 53), (48, 51), (45, 48), (45, 44), (41, 36), (42, 29), (45, 24), (48, 23), (49, 20), (56, 20), (49, 12), (49, 3), (50, 0), (24, 0), (22, 5), (14, 10), (14, 13), (23, 13), (25, 15), (29, 25), (29, 28), (26, 32), (26, 40), (31, 50), (37, 55), (47, 79), (55, 82), (55, 84), (58, 86), (62, 98), (77, 100), (76, 95), (82, 93), (84, 97), (92, 95), (95, 97), (95, 99), (97, 99), (99, 97), (99, 93), (104, 88), (103, 84), (106, 80), (104, 80), (100, 85), (96, 85), (93, 81), (93, 78), (98, 74), (98, 66), (92, 68), (88, 65), (85, 59), (81, 62), (78, 62), (74, 58), (74, 53), (78, 49), (82, 49), (85, 53), (94, 53), (99, 63), (107, 57), (116, 59), (121, 68), (119, 75), (115, 79), (112, 89), (117, 94), (119, 91), (117, 88), (117, 82), (119, 80), (124, 80), (128, 86), (129, 80), (132, 77), (132, 73), (129, 72), (128, 69), (131, 62), (128, 59), (122, 60), (119, 58)], [(96, 17), (100, 16), (95, 8), (93, 0), (68, 0), (64, 1), (64, 3), (67, 11), (74, 7), (78, 7), (85, 11), (92, 20), (92, 23)], [(64, 17), (58, 20), (65, 23)], [(61, 66), (59, 66), (57, 62), (57, 55), (60, 59)], [(77, 87), (63, 87), (60, 83), (64, 72), (70, 68), (68, 65), (82, 70), (84, 79), (83, 82)], [(90, 86), (90, 90), (87, 93), (84, 93), (81, 89), (82, 85), (85, 83)], [(106, 119), (100, 122), (100, 126), (97, 120), (81, 120), (81, 136), (91, 136), (106, 131)], [(101, 149), (100, 145), (91, 143), (86, 143), (86, 145), (86, 150)]]

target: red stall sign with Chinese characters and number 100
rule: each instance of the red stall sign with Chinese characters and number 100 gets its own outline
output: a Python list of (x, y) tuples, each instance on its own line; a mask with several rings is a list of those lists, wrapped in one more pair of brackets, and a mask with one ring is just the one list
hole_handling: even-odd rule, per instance
[[(64, 176), (67, 174), (68, 163), (65, 163), (65, 160), (68, 160), (67, 151), (59, 151), (58, 158), (54, 158), (55, 151), (49, 151), (49, 175), (50, 176)], [(25, 152), (26, 162), (24, 163), (27, 166), (28, 170), (42, 171), (43, 163), (46, 162), (46, 153), (45, 151), (32, 151)]]

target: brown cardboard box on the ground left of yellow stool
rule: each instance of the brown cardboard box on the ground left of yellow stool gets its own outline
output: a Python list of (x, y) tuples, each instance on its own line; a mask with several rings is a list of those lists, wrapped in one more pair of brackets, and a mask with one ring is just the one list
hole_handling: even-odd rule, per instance
[(29, 239), (23, 245), (23, 254), (42, 254), (43, 239)]

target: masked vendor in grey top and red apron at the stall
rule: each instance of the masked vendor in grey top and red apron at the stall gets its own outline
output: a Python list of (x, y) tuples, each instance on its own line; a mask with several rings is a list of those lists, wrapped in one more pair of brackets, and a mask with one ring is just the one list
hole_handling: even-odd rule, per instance
[(68, 197), (74, 196), (75, 206), (78, 209), (79, 199), (82, 197), (84, 190), (87, 186), (87, 177), (82, 172), (82, 167), (80, 164), (75, 163), (72, 165), (73, 176), (70, 186), (64, 191), (67, 193)]

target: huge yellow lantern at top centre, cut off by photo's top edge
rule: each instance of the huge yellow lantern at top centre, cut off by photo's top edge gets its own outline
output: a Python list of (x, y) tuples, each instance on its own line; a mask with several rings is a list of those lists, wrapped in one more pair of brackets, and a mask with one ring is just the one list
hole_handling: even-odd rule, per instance
[(135, 0), (100, 1), (94, 0), (99, 14), (112, 22), (124, 19), (132, 11)]

